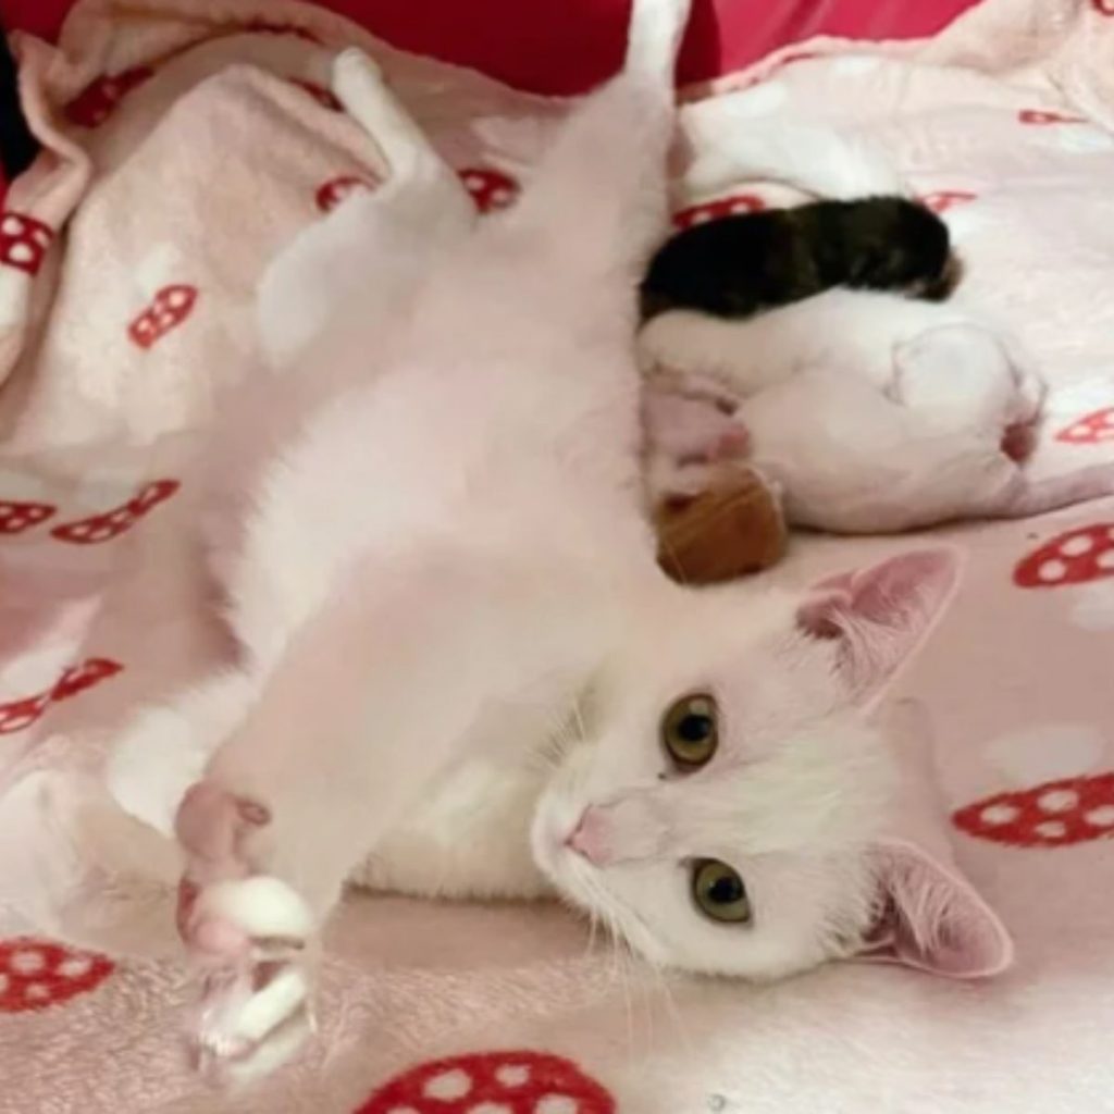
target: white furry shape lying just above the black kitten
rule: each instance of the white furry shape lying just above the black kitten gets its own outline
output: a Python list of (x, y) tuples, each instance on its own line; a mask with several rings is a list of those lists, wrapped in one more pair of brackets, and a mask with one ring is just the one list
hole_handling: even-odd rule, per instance
[(733, 119), (731, 108), (727, 99), (722, 110), (701, 106), (685, 114), (685, 135), (695, 153), (684, 177), (691, 197), (743, 183), (772, 183), (837, 201), (910, 194), (886, 152), (861, 134), (797, 120), (756, 125)]

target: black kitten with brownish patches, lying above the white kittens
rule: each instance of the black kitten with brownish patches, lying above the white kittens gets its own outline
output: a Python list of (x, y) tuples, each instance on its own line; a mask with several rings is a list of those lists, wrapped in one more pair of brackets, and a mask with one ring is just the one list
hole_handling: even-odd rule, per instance
[(677, 233), (651, 261), (642, 313), (700, 310), (745, 317), (833, 286), (938, 301), (957, 277), (948, 226), (918, 202), (812, 202)]

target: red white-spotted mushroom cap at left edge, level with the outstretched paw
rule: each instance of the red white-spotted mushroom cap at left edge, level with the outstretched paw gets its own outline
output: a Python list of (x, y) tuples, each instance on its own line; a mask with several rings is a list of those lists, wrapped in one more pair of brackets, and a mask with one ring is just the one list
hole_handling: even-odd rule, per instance
[(49, 940), (0, 940), (0, 1014), (59, 1006), (95, 990), (113, 969), (104, 956)]

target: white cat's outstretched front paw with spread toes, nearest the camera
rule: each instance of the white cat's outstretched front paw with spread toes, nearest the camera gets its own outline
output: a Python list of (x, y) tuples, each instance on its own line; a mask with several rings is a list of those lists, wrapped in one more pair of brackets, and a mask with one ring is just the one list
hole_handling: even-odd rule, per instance
[(223, 1081), (258, 1078), (313, 1032), (305, 902), (277, 878), (256, 876), (195, 890), (183, 882), (179, 924), (203, 973), (193, 1043), (198, 1068)]

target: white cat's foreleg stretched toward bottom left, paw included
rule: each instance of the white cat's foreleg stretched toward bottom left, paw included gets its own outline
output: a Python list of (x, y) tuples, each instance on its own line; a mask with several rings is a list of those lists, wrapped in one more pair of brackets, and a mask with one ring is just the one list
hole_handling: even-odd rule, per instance
[(486, 701), (551, 664), (537, 582), (515, 583), (458, 553), (361, 570), (190, 790), (179, 919), (206, 973), (197, 1043), (212, 1069), (251, 1077), (293, 1052), (310, 1029), (317, 931), (345, 878)]

